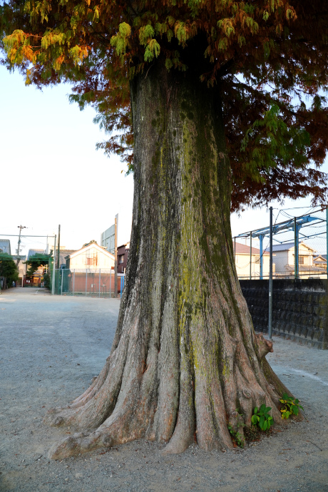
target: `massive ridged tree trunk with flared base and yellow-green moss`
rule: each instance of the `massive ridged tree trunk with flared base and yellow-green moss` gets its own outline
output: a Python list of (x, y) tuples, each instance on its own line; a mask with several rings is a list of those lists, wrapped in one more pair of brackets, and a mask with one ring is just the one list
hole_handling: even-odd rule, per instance
[[(287, 391), (265, 360), (235, 271), (231, 171), (217, 88), (157, 61), (131, 84), (133, 230), (116, 337), (92, 386), (46, 421), (83, 429), (53, 458), (133, 439), (232, 447)], [(239, 414), (242, 414), (240, 417)]]

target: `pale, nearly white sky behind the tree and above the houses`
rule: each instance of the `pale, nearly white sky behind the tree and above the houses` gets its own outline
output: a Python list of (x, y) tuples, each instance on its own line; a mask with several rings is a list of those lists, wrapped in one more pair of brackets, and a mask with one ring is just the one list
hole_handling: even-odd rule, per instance
[[(101, 232), (118, 213), (118, 242), (128, 241), (133, 177), (121, 173), (125, 165), (118, 157), (108, 159), (96, 151), (106, 135), (93, 123), (93, 109), (79, 111), (69, 104), (69, 86), (41, 92), (26, 87), (19, 73), (3, 66), (0, 86), (0, 234), (17, 234), (17, 226), (24, 225), (26, 234), (46, 235), (61, 224), (61, 244), (78, 249), (92, 239), (100, 242)], [(328, 172), (327, 161), (323, 170)], [(286, 200), (283, 208), (300, 206), (309, 207), (310, 199)], [(232, 215), (232, 235), (267, 225), (265, 208)], [(43, 240), (26, 238), (22, 244), (26, 249), (43, 247)], [(12, 238), (12, 252), (15, 248)]]

